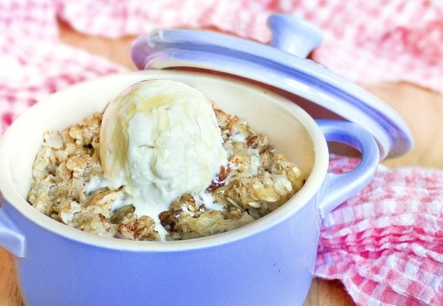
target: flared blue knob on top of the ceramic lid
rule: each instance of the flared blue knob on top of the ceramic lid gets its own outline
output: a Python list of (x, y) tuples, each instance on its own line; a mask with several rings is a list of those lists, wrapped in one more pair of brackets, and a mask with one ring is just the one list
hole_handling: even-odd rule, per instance
[(305, 58), (323, 40), (318, 28), (290, 15), (271, 15), (268, 17), (268, 27), (272, 32), (272, 47), (301, 58)]

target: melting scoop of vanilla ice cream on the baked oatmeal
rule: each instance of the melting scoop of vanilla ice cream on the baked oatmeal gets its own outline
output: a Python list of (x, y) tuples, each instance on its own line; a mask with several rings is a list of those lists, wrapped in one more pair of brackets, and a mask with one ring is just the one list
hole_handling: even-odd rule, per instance
[(222, 143), (202, 92), (172, 80), (147, 80), (107, 106), (100, 159), (110, 188), (124, 186), (138, 199), (131, 203), (136, 213), (157, 214), (184, 193), (202, 193), (210, 185), (226, 163)]

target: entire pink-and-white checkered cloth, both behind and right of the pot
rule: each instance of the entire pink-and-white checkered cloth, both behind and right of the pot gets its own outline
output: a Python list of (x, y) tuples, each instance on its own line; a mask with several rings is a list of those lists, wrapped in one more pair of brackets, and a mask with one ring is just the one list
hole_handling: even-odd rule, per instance
[[(272, 12), (325, 32), (312, 55), (358, 83), (409, 81), (443, 92), (442, 1), (1, 0), (0, 135), (37, 100), (125, 70), (58, 41), (56, 18), (120, 37), (160, 27), (217, 28), (269, 40)], [(332, 156), (332, 171), (358, 160)], [(315, 274), (343, 281), (359, 305), (443, 305), (443, 171), (380, 166), (323, 221)]]

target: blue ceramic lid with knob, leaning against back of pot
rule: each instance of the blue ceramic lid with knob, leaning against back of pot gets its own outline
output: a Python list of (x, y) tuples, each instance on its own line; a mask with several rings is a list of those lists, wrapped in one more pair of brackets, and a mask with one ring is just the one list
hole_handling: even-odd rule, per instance
[(323, 35), (288, 15), (269, 17), (270, 45), (203, 30), (155, 30), (133, 42), (138, 69), (197, 67), (264, 83), (329, 109), (374, 135), (380, 157), (407, 153), (413, 138), (406, 122), (369, 92), (306, 59)]

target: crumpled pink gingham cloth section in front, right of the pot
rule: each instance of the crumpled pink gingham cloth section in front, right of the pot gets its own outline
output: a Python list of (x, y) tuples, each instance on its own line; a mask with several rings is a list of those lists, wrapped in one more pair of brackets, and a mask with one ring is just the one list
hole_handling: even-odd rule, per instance
[[(331, 156), (329, 171), (358, 160)], [(442, 305), (443, 172), (380, 165), (321, 228), (316, 276), (341, 279), (360, 305)]]

